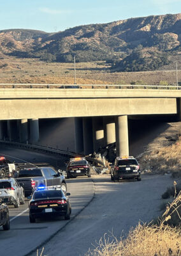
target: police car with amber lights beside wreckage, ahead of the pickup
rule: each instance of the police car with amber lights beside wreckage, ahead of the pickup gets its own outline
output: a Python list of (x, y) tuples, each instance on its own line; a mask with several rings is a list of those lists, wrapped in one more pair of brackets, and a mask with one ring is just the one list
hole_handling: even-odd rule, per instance
[(67, 178), (75, 178), (77, 176), (91, 177), (91, 166), (85, 157), (76, 157), (69, 159), (67, 166)]

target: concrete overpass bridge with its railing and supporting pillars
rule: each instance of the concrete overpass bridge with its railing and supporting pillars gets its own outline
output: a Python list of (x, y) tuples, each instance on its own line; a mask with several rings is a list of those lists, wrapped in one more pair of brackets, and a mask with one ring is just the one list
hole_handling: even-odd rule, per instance
[(75, 151), (92, 153), (116, 141), (129, 154), (127, 118), (178, 115), (176, 86), (0, 84), (0, 139), (37, 143), (41, 118), (74, 118)]

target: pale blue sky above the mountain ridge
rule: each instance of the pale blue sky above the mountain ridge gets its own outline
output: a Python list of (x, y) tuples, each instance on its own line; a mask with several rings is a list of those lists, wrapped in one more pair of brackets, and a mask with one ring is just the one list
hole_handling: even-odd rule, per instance
[(0, 29), (46, 32), (181, 12), (181, 0), (0, 0), (0, 4)]

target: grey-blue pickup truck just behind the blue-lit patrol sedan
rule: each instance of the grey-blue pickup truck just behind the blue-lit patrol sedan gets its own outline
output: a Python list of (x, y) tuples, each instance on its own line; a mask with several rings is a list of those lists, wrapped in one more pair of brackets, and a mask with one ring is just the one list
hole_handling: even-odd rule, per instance
[(34, 189), (39, 186), (45, 186), (49, 189), (61, 188), (64, 193), (67, 190), (64, 175), (54, 170), (52, 166), (22, 169), (16, 180), (24, 188), (25, 197), (31, 196)]

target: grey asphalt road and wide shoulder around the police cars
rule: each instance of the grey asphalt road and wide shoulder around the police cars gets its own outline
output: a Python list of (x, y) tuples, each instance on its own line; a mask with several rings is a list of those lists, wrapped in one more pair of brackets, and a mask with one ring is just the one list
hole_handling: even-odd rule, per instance
[[(15, 148), (0, 149), (0, 154), (24, 161), (51, 164), (57, 161), (55, 156)], [(139, 221), (156, 218), (160, 214), (161, 194), (173, 180), (170, 175), (142, 175), (140, 182), (112, 182), (110, 175), (94, 175), (92, 179), (76, 178), (67, 183), (73, 209), (71, 220), (29, 223), (28, 200), (18, 209), (10, 206), (11, 229), (0, 230), (1, 256), (36, 256), (38, 246), (40, 250), (44, 246), (46, 256), (83, 256), (104, 234), (108, 237), (113, 232), (117, 238), (126, 236)]]

